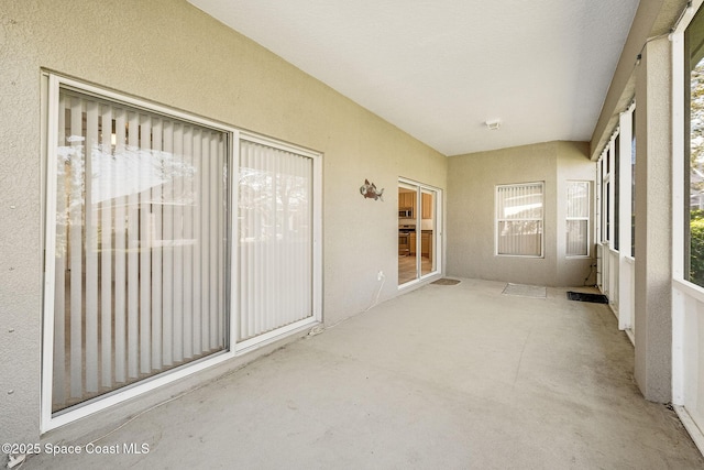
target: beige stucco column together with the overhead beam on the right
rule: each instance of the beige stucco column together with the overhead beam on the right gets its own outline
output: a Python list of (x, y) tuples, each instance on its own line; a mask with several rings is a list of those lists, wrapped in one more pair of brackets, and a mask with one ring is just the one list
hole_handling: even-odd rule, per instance
[[(649, 0), (638, 6), (604, 107), (592, 135), (598, 157), (618, 125), (618, 116), (636, 101), (636, 382), (651, 401), (672, 398), (672, 57), (668, 35), (686, 0)], [(640, 55), (640, 61), (637, 61)], [(674, 240), (674, 243), (678, 243)], [(622, 300), (623, 302), (623, 300)], [(674, 331), (679, 335), (681, 331)], [(697, 383), (701, 376), (685, 376)]]

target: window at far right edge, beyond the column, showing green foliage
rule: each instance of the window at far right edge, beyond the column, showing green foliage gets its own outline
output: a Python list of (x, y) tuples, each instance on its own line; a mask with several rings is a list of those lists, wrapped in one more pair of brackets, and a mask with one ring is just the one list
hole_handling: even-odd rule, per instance
[[(689, 217), (685, 217), (684, 276), (704, 286), (704, 13), (694, 17), (685, 33), (685, 168), (689, 184), (685, 185), (685, 201)], [(689, 89), (688, 89), (689, 88)]]

